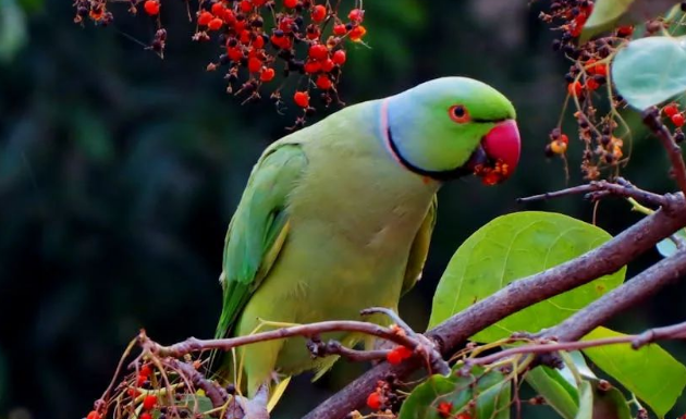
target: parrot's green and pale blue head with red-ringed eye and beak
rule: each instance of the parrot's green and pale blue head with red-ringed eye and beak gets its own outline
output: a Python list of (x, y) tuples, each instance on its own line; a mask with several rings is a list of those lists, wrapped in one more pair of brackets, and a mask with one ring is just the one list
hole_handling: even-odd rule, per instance
[(466, 77), (443, 77), (388, 98), (387, 141), (407, 169), (439, 181), (476, 174), (489, 185), (514, 172), (519, 131), (510, 100)]

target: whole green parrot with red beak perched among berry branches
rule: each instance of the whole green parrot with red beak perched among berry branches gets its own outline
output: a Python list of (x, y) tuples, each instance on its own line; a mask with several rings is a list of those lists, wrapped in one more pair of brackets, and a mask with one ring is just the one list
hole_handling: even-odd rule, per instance
[[(473, 174), (488, 185), (510, 177), (520, 153), (515, 119), (495, 88), (445, 76), (345, 107), (272, 143), (229, 223), (216, 337), (363, 320), (369, 307), (396, 311), (421, 276), (437, 192)], [(347, 332), (326, 337), (347, 347), (365, 340)], [(260, 389), (282, 394), (277, 387), (291, 377), (319, 377), (336, 360), (313, 359), (306, 342), (240, 347), (222, 356), (217, 373), (241, 382), (248, 397)]]

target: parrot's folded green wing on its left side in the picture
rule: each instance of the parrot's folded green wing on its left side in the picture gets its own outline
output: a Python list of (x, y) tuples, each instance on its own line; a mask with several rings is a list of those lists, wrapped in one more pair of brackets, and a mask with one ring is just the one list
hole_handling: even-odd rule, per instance
[(226, 336), (277, 260), (289, 234), (287, 196), (307, 167), (298, 144), (274, 144), (250, 174), (224, 242), (223, 306), (216, 337)]

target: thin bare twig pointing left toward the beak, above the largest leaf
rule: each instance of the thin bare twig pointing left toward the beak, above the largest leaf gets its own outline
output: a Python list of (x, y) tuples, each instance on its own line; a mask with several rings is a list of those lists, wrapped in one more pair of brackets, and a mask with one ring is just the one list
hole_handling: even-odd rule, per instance
[(517, 202), (531, 202), (542, 199), (560, 198), (578, 194), (586, 194), (586, 197), (591, 200), (604, 198), (607, 195), (616, 195), (625, 198), (634, 198), (639, 202), (649, 204), (658, 207), (664, 207), (665, 205), (669, 205), (669, 201), (664, 198), (664, 196), (637, 188), (636, 186), (621, 177), (616, 180), (616, 183), (610, 183), (608, 181), (596, 181), (587, 185), (579, 185), (562, 190), (550, 192), (547, 194), (535, 195), (526, 198), (518, 198)]

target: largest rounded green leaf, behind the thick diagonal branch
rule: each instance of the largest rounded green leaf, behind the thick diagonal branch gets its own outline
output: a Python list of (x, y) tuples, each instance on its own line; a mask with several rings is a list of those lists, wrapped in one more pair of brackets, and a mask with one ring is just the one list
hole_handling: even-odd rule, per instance
[[(552, 212), (516, 212), (474, 233), (457, 249), (433, 296), (429, 328), (515, 280), (574, 259), (611, 236)], [(493, 342), (515, 331), (538, 332), (560, 323), (624, 281), (625, 269), (514, 313), (471, 338)]]

